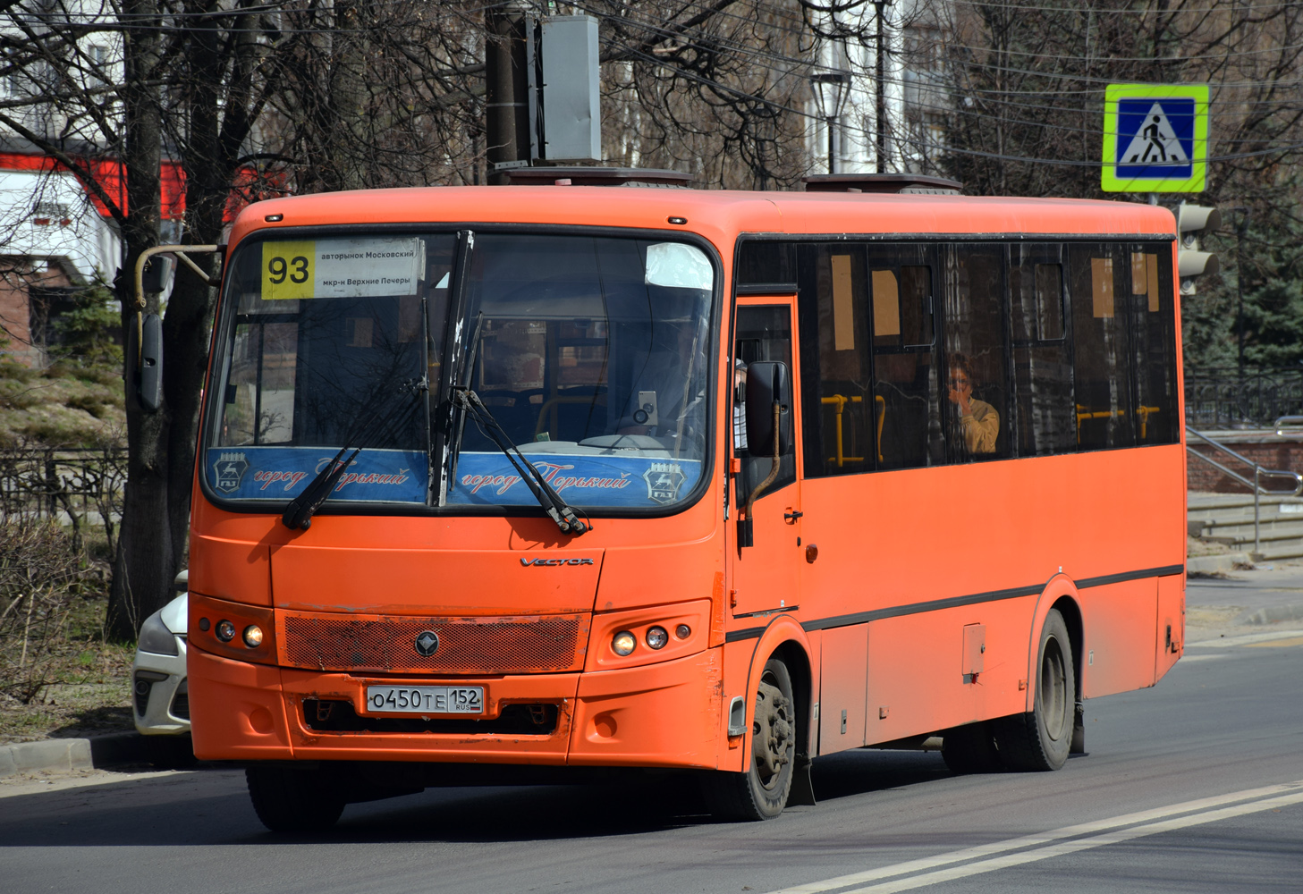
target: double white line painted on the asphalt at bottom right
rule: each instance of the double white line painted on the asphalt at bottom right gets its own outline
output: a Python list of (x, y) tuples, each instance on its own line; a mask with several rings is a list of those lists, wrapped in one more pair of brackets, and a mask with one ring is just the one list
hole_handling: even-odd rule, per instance
[[(990, 844), (979, 844), (977, 847), (968, 847), (962, 851), (954, 851), (951, 854), (939, 854), (937, 856), (923, 858), (919, 860), (896, 863), (890, 867), (866, 869), (864, 872), (856, 872), (848, 876), (838, 876), (837, 878), (826, 878), (823, 881), (808, 882), (805, 885), (796, 885), (794, 887), (784, 887), (778, 891), (771, 891), (770, 894), (822, 894), (822, 891), (851, 887), (852, 885), (863, 885), (864, 882), (877, 881), (880, 878), (894, 878), (896, 876), (906, 876), (915, 872), (937, 869), (938, 867), (945, 867), (954, 863), (981, 860), (980, 863), (969, 863), (968, 865), (955, 867), (952, 869), (947, 869), (943, 872), (930, 872), (926, 876), (902, 878), (899, 881), (886, 882), (883, 885), (876, 885), (872, 887), (856, 887), (853, 889), (853, 891), (846, 891), (846, 894), (868, 894), (869, 891), (878, 894), (880, 891), (881, 893), (899, 891), (899, 890), (906, 890), (908, 887), (934, 885), (939, 881), (946, 881), (947, 878), (960, 878), (966, 874), (977, 874), (981, 872), (993, 872), (995, 869), (1001, 869), (1003, 868), (1003, 865), (994, 865), (994, 864), (1002, 863), (1003, 860), (1012, 860), (1012, 863), (1009, 863), (1007, 865), (1018, 865), (1019, 863), (1031, 863), (1032, 860), (1044, 860), (1050, 856), (1058, 856), (1059, 848), (1067, 848), (1063, 850), (1062, 852), (1071, 854), (1078, 850), (1085, 850), (1087, 847), (1100, 847), (1102, 844), (1110, 844), (1113, 843), (1113, 841), (1105, 841), (1105, 839), (1111, 839), (1114, 835), (1128, 835), (1131, 838), (1139, 838), (1140, 835), (1152, 835), (1160, 831), (1167, 831), (1167, 829), (1160, 829), (1157, 826), (1165, 826), (1169, 822), (1184, 822), (1186, 825), (1197, 825), (1199, 822), (1216, 822), (1218, 818), (1225, 818), (1225, 817), (1214, 816), (1222, 812), (1214, 808), (1222, 808), (1222, 805), (1233, 804), (1235, 801), (1246, 801), (1251, 799), (1263, 799), (1272, 796), (1283, 796), (1285, 799), (1290, 799), (1289, 803), (1303, 801), (1303, 791), (1300, 790), (1303, 790), (1303, 779), (1299, 779), (1296, 782), (1283, 782), (1274, 786), (1263, 786), (1261, 788), (1246, 788), (1243, 791), (1233, 791), (1226, 795), (1200, 798), (1191, 801), (1182, 801), (1181, 804), (1157, 807), (1149, 811), (1124, 813), (1122, 816), (1115, 816), (1106, 820), (1095, 820), (1092, 822), (1081, 822), (1074, 826), (1063, 826), (1062, 829), (1053, 829), (1050, 831), (1037, 833), (1033, 835), (1023, 835), (1022, 838), (1010, 838), (1002, 842), (993, 842)], [(1276, 807), (1274, 803), (1276, 800), (1280, 800), (1280, 798), (1273, 799), (1270, 803), (1264, 800), (1253, 800), (1251, 804), (1243, 804), (1240, 807), (1225, 808), (1225, 809), (1240, 811), (1242, 813), (1252, 813), (1255, 811), (1270, 809), (1272, 807)], [(1166, 822), (1153, 822), (1154, 820), (1165, 820), (1166, 817), (1173, 817), (1178, 813), (1192, 813), (1192, 816), (1181, 817), (1179, 820), (1166, 820)], [(1239, 813), (1230, 813), (1227, 816), (1239, 816)], [(1149, 822), (1152, 825), (1145, 825), (1145, 826), (1136, 825), (1141, 822)], [(1134, 828), (1122, 831), (1111, 831), (1121, 829), (1122, 826), (1134, 826)], [(1182, 826), (1174, 826), (1174, 828), (1182, 828)], [(1152, 829), (1152, 831), (1139, 831), (1139, 834), (1135, 835), (1130, 834), (1141, 829), (1144, 830)], [(1109, 833), (1109, 834), (1101, 835), (1097, 833)], [(1076, 838), (1079, 835), (1089, 835), (1089, 834), (1096, 834), (1096, 837), (1079, 839), (1075, 842), (1063, 842), (1061, 844), (1054, 844), (1052, 847), (1044, 847), (1050, 842), (1061, 842), (1065, 838)], [(1127, 838), (1118, 838), (1118, 841), (1126, 841), (1126, 839)], [(1081, 846), (1078, 847), (1079, 844)], [(1022, 854), (1007, 854), (1009, 851), (1020, 851), (1027, 847), (1037, 847), (1037, 850), (1024, 851)], [(1005, 854), (1006, 856), (994, 860), (982, 859), (982, 858), (992, 858), (993, 855), (997, 854)], [(1040, 856), (1023, 859), (1032, 854)], [(979, 868), (979, 867), (989, 867), (989, 868)], [(958, 873), (958, 874), (950, 874), (950, 873)], [(941, 876), (945, 876), (945, 878)]]

